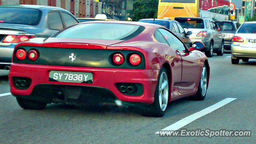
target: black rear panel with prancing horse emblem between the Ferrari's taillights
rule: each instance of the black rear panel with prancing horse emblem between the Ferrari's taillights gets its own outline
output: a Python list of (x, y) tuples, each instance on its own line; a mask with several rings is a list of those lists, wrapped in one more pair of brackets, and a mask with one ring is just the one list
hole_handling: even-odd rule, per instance
[[(22, 64), (42, 64), (52, 66), (80, 66), (80, 67), (97, 67), (97, 68), (131, 68), (145, 69), (145, 58), (141, 52), (135, 50), (107, 50), (107, 49), (85, 49), (85, 48), (51, 48), (51, 47), (32, 47), (20, 46), (26, 52), (36, 49), (39, 52), (39, 58), (36, 61), (18, 60), (14, 56), (13, 62)], [(19, 49), (16, 48), (16, 51)], [(15, 51), (15, 52), (16, 52)], [(73, 55), (72, 55), (73, 53)], [(124, 63), (120, 66), (112, 62), (112, 56), (115, 53), (122, 53), (125, 57)], [(132, 66), (129, 62), (131, 54), (139, 54), (142, 62), (138, 66)], [(15, 54), (14, 54), (15, 55)], [(76, 56), (76, 57), (75, 57)], [(72, 62), (71, 57), (75, 57)]]

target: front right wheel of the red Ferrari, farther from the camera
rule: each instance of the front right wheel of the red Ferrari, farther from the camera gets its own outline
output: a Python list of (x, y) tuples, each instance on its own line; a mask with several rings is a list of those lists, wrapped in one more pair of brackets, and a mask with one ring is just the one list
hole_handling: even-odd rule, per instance
[(194, 96), (196, 100), (204, 100), (206, 96), (206, 91), (207, 91), (207, 81), (208, 81), (207, 69), (206, 69), (206, 66), (204, 65), (202, 68), (198, 89), (197, 89), (196, 95)]

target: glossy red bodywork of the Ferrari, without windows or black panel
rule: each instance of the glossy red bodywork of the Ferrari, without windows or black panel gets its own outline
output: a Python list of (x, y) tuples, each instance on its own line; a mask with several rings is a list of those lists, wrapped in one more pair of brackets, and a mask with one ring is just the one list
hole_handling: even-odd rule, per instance
[[(90, 22), (88, 22), (90, 23)], [(152, 104), (154, 102), (154, 92), (158, 80), (158, 74), (162, 66), (170, 72), (170, 88), (168, 101), (176, 100), (185, 96), (196, 94), (202, 67), (207, 61), (207, 57), (200, 51), (192, 51), (187, 56), (178, 56), (176, 50), (170, 46), (158, 42), (154, 38), (154, 31), (161, 26), (140, 22), (104, 22), (104, 23), (124, 23), (138, 24), (145, 27), (145, 30), (138, 36), (130, 40), (91, 40), (91, 39), (70, 39), (70, 38), (49, 38), (45, 42), (24, 42), (16, 46), (39, 46), (56, 48), (90, 48), (108, 50), (135, 50), (141, 52), (145, 58), (145, 69), (125, 69), (125, 68), (95, 68), (76, 66), (50, 66), (35, 64), (19, 64), (12, 60), (9, 82), (10, 91), (15, 96), (30, 95), (34, 86), (38, 84), (63, 84), (82, 85), (107, 88), (122, 101), (141, 102)], [(161, 27), (164, 28), (164, 27)], [(15, 52), (15, 50), (14, 50)], [(207, 63), (207, 62), (206, 62)], [(208, 68), (208, 82), (210, 67)], [(48, 80), (51, 70), (71, 71), (71, 72), (91, 72), (93, 83), (70, 83), (52, 82)], [(32, 83), (26, 90), (15, 88), (13, 77), (28, 77)], [(144, 92), (141, 96), (128, 96), (123, 94), (116, 87), (118, 82), (140, 83)], [(208, 87), (208, 84), (207, 84)]]

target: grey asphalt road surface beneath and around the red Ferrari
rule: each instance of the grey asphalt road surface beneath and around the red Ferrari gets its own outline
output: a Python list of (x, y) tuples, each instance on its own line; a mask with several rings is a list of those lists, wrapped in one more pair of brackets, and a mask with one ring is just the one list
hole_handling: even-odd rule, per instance
[[(143, 117), (135, 108), (81, 108), (48, 104), (23, 110), (14, 96), (0, 97), (0, 144), (253, 144), (256, 141), (256, 60), (231, 64), (231, 54), (209, 58), (210, 84), (204, 101), (169, 103), (162, 118)], [(0, 94), (10, 92), (8, 71), (0, 71)], [(251, 130), (250, 137), (160, 137), (155, 134), (226, 98), (236, 100), (183, 128)]]

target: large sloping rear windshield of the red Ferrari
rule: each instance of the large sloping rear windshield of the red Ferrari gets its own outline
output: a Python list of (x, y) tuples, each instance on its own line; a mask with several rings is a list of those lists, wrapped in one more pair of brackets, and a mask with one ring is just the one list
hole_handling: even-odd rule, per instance
[(80, 23), (61, 30), (53, 38), (87, 38), (104, 40), (128, 40), (144, 30), (143, 26), (115, 23)]

